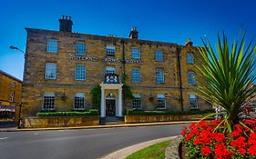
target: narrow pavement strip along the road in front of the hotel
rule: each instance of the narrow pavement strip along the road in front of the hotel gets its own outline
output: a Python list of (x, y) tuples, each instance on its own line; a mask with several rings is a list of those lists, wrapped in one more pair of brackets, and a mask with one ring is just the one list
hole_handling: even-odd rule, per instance
[(97, 129), (97, 128), (116, 128), (116, 127), (133, 127), (133, 126), (150, 126), (163, 124), (191, 124), (198, 121), (176, 121), (176, 122), (158, 122), (158, 123), (138, 123), (138, 124), (104, 124), (92, 126), (75, 126), (75, 127), (47, 127), (47, 128), (18, 128), (14, 125), (10, 127), (0, 127), (0, 132), (19, 132), (19, 131), (46, 131), (46, 130), (72, 130), (72, 129)]

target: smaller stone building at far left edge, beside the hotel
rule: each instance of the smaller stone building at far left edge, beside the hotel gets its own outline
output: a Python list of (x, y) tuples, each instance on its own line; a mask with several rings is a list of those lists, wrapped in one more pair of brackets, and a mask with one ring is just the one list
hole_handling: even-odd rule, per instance
[(22, 81), (0, 70), (0, 119), (17, 121), (22, 97)]

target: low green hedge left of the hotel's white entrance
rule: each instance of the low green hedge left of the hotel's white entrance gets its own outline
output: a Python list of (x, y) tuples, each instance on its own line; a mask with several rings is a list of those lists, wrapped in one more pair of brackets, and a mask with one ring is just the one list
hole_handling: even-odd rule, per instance
[(69, 112), (39, 112), (36, 116), (95, 116), (98, 115), (97, 109), (91, 109), (89, 111), (69, 111)]

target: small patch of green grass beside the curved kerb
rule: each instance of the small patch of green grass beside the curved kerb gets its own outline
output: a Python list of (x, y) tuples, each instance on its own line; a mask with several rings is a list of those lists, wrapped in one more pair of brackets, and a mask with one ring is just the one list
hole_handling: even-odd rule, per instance
[(134, 154), (128, 155), (126, 159), (164, 159), (165, 149), (169, 143), (170, 140), (150, 145)]

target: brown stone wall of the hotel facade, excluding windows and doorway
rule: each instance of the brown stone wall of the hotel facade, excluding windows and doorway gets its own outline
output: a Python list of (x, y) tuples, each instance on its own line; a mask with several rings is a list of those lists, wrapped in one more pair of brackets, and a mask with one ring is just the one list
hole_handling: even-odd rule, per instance
[[(127, 84), (131, 86), (132, 93), (141, 95), (141, 109), (156, 110), (158, 94), (165, 96), (165, 110), (181, 110), (181, 96), (184, 110), (190, 109), (189, 94), (193, 90), (189, 85), (188, 72), (189, 70), (194, 71), (195, 64), (200, 63), (196, 47), (32, 28), (26, 28), (26, 32), (24, 116), (34, 116), (42, 110), (43, 94), (49, 92), (55, 93), (55, 110), (72, 110), (76, 93), (86, 94), (85, 109), (91, 108), (93, 105), (90, 90), (96, 84), (101, 84), (104, 81), (107, 66), (115, 67), (119, 78), (123, 74), (128, 75)], [(55, 54), (46, 53), (46, 42), (49, 39), (58, 42), (58, 51)], [(86, 44), (86, 55), (76, 56), (77, 42)], [(115, 46), (115, 56), (106, 54), (107, 45)], [(140, 59), (132, 59), (132, 47), (140, 50)], [(164, 60), (162, 62), (155, 60), (156, 50), (163, 53)], [(195, 64), (187, 64), (186, 55), (188, 53), (194, 55)], [(46, 63), (56, 64), (55, 80), (45, 79)], [(86, 65), (86, 80), (75, 80), (76, 65)], [(139, 83), (131, 81), (131, 69), (133, 68), (140, 69), (141, 81)], [(156, 83), (156, 70), (159, 68), (164, 71), (163, 84)], [(182, 84), (181, 89), (180, 84)], [(107, 90), (105, 94), (109, 92), (118, 97), (118, 90)], [(153, 100), (149, 101), (150, 97)], [(127, 105), (130, 107), (130, 103), (131, 100), (128, 99), (123, 101), (123, 110)], [(198, 103), (199, 109), (209, 108), (208, 104), (200, 98)]]

